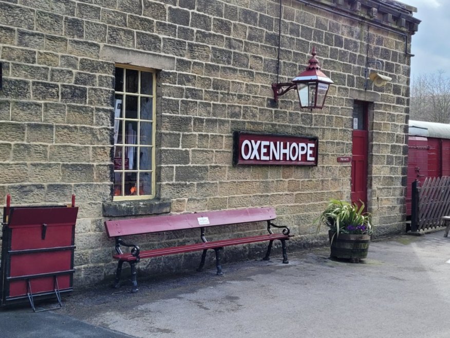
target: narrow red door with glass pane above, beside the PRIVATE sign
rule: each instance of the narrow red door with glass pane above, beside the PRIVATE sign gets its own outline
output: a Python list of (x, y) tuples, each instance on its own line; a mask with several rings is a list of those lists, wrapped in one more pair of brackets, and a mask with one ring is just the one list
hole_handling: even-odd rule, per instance
[(367, 104), (354, 103), (352, 143), (351, 202), (367, 206)]

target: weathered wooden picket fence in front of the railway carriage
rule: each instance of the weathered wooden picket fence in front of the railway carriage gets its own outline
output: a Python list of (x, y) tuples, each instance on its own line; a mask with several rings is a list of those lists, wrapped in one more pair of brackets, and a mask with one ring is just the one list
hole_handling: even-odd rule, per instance
[(450, 177), (426, 177), (412, 183), (411, 232), (444, 226), (442, 216), (450, 216)]

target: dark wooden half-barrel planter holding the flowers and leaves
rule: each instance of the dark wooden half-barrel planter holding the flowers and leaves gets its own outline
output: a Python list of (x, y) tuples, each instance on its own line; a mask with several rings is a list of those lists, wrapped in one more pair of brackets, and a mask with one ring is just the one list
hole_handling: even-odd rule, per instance
[(367, 257), (369, 251), (370, 235), (349, 235), (328, 232), (330, 238), (331, 257), (350, 259), (358, 263)]

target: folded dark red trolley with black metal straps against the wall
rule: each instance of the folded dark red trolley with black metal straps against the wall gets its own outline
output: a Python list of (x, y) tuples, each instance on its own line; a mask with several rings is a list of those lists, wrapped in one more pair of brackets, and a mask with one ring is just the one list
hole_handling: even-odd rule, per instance
[(3, 230), (3, 303), (28, 300), (28, 286), (32, 296), (54, 297), (55, 280), (59, 292), (72, 290), (77, 214), (78, 207), (11, 207)]

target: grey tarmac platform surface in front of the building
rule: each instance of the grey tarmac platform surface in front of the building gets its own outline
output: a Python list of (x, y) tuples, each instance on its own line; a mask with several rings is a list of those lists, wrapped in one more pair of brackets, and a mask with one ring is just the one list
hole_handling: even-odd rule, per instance
[[(98, 285), (63, 297), (63, 308), (0, 309), (0, 337), (67, 338), (449, 338), (450, 237), (372, 241), (367, 259), (329, 258), (329, 248), (204, 272)], [(39, 304), (37, 309), (54, 304)]]

